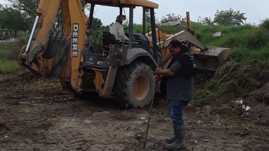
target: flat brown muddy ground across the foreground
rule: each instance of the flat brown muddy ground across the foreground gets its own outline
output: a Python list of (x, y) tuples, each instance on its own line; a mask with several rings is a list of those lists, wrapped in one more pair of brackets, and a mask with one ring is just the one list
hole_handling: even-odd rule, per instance
[[(58, 87), (46, 87), (47, 80), (23, 79), (0, 82), (1, 151), (143, 150), (148, 109), (120, 110), (111, 99), (77, 99), (69, 92), (52, 91)], [(251, 110), (241, 117), (235, 104), (188, 106), (186, 150), (269, 150), (269, 105), (252, 102)], [(156, 107), (145, 150), (165, 150), (171, 129), (167, 108)]]

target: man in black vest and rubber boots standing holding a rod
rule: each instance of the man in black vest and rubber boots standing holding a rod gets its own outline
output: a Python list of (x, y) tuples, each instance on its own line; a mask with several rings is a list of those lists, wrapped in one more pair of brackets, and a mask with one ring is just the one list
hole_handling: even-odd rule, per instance
[(170, 101), (169, 115), (173, 121), (174, 138), (167, 139), (166, 148), (179, 150), (185, 148), (184, 122), (182, 112), (193, 98), (193, 77), (196, 64), (190, 50), (178, 40), (172, 40), (169, 50), (173, 56), (167, 70), (157, 68), (155, 80), (167, 78), (166, 94)]

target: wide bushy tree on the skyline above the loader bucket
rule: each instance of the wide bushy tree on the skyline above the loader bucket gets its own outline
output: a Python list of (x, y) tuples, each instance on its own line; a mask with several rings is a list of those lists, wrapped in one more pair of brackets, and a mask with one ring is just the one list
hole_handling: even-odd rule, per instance
[(232, 8), (230, 10), (217, 10), (215, 13), (214, 23), (220, 25), (241, 25), (246, 21), (244, 16), (246, 13), (240, 13), (239, 10), (234, 11)]

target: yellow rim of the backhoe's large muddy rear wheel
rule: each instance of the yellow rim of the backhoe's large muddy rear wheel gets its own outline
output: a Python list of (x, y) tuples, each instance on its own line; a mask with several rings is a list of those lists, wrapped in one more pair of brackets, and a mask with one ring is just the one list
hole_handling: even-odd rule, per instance
[(134, 96), (138, 101), (144, 100), (149, 93), (149, 79), (144, 75), (138, 76), (135, 80), (133, 90)]

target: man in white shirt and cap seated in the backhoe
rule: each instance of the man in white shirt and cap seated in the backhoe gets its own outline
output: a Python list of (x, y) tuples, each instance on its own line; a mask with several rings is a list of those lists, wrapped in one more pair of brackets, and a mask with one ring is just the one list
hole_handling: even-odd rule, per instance
[(116, 40), (122, 41), (122, 39), (129, 41), (129, 38), (125, 36), (123, 31), (123, 18), (121, 15), (117, 16), (116, 22), (110, 27), (109, 32), (113, 34)]

